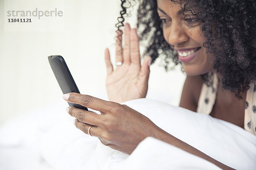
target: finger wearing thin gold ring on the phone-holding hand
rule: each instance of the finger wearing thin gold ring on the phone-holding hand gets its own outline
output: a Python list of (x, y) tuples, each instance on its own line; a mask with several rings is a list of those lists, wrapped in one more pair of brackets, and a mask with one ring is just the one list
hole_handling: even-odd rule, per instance
[[(78, 119), (75, 119), (75, 120), (74, 120), (74, 125), (75, 125), (78, 129), (80, 129), (82, 132), (84, 132), (84, 133), (86, 133), (87, 135), (89, 135), (89, 134), (88, 134), (88, 129), (89, 129), (89, 127), (92, 126), (92, 125), (87, 124), (87, 123), (84, 123), (84, 122), (80, 122)], [(93, 125), (93, 126), (90, 128), (90, 135), (91, 135), (91, 136), (99, 137), (99, 136), (98, 136), (99, 131), (100, 131), (99, 127)]]

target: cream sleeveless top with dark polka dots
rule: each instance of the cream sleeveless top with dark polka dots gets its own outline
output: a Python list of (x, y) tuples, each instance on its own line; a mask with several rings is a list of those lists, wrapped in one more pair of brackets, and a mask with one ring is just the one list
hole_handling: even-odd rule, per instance
[[(212, 77), (212, 87), (208, 87), (205, 83), (202, 85), (198, 100), (198, 113), (209, 115), (212, 112), (218, 89), (218, 77), (216, 74), (213, 74)], [(246, 96), (244, 129), (256, 135), (256, 85), (253, 83), (250, 84), (250, 89), (247, 91)]]

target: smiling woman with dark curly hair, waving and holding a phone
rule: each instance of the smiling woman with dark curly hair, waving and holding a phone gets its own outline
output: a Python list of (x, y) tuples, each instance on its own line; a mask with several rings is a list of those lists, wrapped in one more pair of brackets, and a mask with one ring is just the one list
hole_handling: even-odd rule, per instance
[[(232, 169), (160, 129), (147, 117), (126, 105), (143, 98), (148, 88), (149, 65), (164, 57), (166, 69), (172, 59), (187, 74), (180, 106), (238, 125), (256, 134), (256, 3), (253, 0), (144, 0), (138, 10), (140, 40), (149, 37), (140, 65), (139, 37), (125, 24), (125, 46), (118, 31), (113, 71), (108, 50), (107, 102), (92, 96), (65, 94), (68, 102), (101, 111), (102, 115), (67, 108), (84, 133), (97, 136), (113, 149), (131, 154), (147, 136), (160, 139), (204, 158), (222, 169)], [(125, 0), (122, 0), (125, 14)], [(121, 21), (121, 23), (123, 20)], [(119, 28), (119, 26), (118, 26)]]

